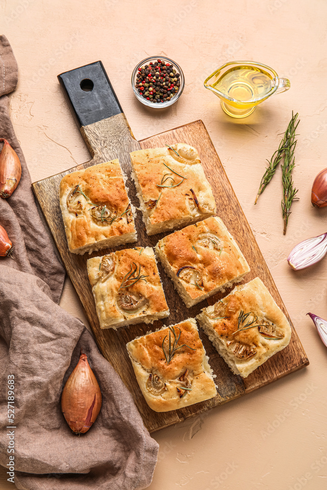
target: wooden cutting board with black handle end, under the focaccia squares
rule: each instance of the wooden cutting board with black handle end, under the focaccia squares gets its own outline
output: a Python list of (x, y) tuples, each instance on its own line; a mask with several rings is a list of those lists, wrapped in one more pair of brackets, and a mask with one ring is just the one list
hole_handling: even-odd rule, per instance
[[(89, 257), (105, 255), (113, 251), (113, 249), (105, 249), (91, 255), (85, 254), (82, 256), (69, 252), (58, 198), (59, 183), (67, 173), (119, 158), (123, 171), (128, 176), (129, 197), (132, 203), (138, 206), (134, 184), (130, 179), (129, 152), (140, 148), (164, 147), (166, 144), (172, 145), (180, 142), (196, 147), (201, 157), (204, 172), (213, 189), (218, 215), (240, 245), (251, 267), (251, 272), (246, 275), (243, 282), (248, 282), (259, 276), (288, 319), (289, 316), (204, 124), (201, 121), (195, 121), (138, 142), (130, 131), (101, 62), (62, 73), (58, 78), (80, 126), (83, 138), (94, 156), (89, 162), (78, 165), (73, 169), (34, 182), (32, 184), (33, 190), (67, 273), (85, 309), (99, 348), (131, 392), (149, 431), (153, 432), (188, 417), (198, 415), (205, 410), (252, 392), (286, 374), (307, 366), (309, 361), (293, 326), (290, 344), (270, 358), (263, 366), (256, 369), (246, 379), (231, 373), (226, 363), (200, 329), (200, 337), (210, 357), (210, 366), (213, 368), (214, 374), (217, 375), (217, 396), (211, 400), (166, 413), (156, 413), (148, 407), (136, 382), (127, 355), (126, 343), (137, 336), (145, 334), (149, 329), (155, 330), (162, 326), (162, 322), (156, 321), (150, 326), (145, 323), (139, 323), (118, 330), (101, 330), (87, 277), (86, 261)], [(92, 90), (85, 91), (83, 90), (85, 88), (92, 88)], [(164, 234), (160, 234), (148, 237), (139, 211), (136, 227), (138, 242), (120, 246), (118, 247), (119, 249), (136, 245), (143, 247), (154, 246), (164, 236)], [(170, 325), (189, 317), (195, 317), (200, 313), (201, 308), (207, 306), (207, 302), (202, 301), (192, 308), (186, 308), (176, 293), (172, 281), (166, 276), (160, 264), (158, 267), (167, 303), (171, 311), (170, 317), (164, 321), (165, 324)], [(229, 293), (229, 290), (224, 295), (227, 293)], [(222, 296), (222, 294), (212, 296), (209, 299), (210, 304), (213, 304)], [(290, 319), (289, 321), (291, 322)]]

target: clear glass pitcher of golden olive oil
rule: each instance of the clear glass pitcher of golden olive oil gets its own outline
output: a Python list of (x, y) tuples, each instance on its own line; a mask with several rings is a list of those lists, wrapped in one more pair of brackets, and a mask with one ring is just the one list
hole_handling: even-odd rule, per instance
[(291, 86), (275, 70), (252, 61), (230, 61), (209, 75), (204, 86), (221, 99), (223, 110), (233, 118), (245, 118), (273, 94)]

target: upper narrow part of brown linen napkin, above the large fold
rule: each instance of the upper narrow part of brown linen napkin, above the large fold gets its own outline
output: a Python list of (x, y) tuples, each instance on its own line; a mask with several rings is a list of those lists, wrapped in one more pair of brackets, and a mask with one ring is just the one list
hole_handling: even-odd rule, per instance
[(0, 198), (0, 224), (15, 250), (14, 260), (4, 259), (0, 264), (39, 276), (49, 286), (53, 301), (58, 303), (65, 272), (35, 205), (25, 158), (9, 117), (9, 98), (4, 95), (16, 89), (17, 79), (14, 54), (7, 38), (0, 36), (0, 138), (8, 140), (22, 164), (22, 178), (16, 191), (8, 199)]

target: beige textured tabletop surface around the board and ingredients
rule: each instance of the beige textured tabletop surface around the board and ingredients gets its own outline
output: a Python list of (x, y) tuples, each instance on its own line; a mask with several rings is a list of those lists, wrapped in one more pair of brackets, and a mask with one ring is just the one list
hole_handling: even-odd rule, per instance
[[(293, 245), (327, 228), (310, 205), (327, 130), (325, 0), (0, 0), (0, 33), (16, 55), (11, 114), (32, 181), (89, 159), (56, 75), (101, 59), (137, 139), (202, 119), (225, 166), (307, 352), (310, 366), (235, 402), (154, 435), (151, 490), (323, 490), (327, 485), (327, 349), (308, 311), (327, 318), (327, 258), (294, 272)], [(186, 86), (160, 114), (135, 99), (130, 74), (152, 54), (175, 59)], [(288, 76), (291, 90), (236, 121), (203, 88), (228, 60), (254, 60)], [(292, 109), (301, 117), (294, 181), (300, 200), (282, 235), (280, 172), (253, 200)], [(233, 211), (232, 209), (230, 210)], [(63, 308), (85, 321), (69, 280)], [(0, 489), (13, 488), (0, 470)]]

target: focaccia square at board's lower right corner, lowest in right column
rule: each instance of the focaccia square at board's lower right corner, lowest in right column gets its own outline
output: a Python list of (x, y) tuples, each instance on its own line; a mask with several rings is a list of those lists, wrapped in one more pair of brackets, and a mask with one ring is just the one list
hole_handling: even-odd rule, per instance
[(243, 378), (291, 339), (289, 322), (258, 277), (203, 308), (197, 319), (232, 372)]

